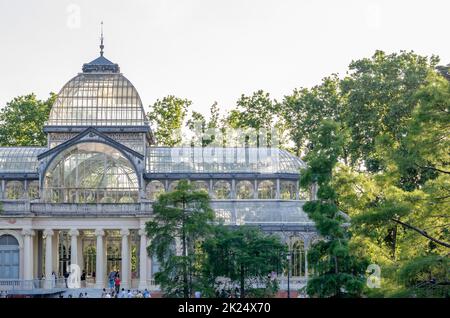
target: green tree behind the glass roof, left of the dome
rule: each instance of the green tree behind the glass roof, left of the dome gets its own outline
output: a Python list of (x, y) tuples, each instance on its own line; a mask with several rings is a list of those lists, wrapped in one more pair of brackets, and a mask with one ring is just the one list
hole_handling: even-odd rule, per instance
[(29, 94), (15, 97), (0, 111), (1, 146), (44, 146), (47, 136), (43, 131), (50, 109), (56, 99), (51, 93), (47, 100)]

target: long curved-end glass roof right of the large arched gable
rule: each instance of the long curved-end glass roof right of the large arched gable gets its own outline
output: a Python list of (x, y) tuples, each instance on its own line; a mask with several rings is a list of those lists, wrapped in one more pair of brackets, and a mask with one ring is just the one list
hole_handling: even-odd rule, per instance
[(150, 173), (293, 173), (304, 162), (277, 148), (151, 147)]

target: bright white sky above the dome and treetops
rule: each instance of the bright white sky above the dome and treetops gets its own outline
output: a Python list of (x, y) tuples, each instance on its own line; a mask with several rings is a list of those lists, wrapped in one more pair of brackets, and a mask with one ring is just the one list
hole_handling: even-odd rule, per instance
[(98, 56), (101, 20), (146, 110), (174, 94), (207, 112), (258, 89), (281, 99), (376, 49), (447, 64), (449, 13), (446, 0), (0, 0), (0, 105), (58, 92)]

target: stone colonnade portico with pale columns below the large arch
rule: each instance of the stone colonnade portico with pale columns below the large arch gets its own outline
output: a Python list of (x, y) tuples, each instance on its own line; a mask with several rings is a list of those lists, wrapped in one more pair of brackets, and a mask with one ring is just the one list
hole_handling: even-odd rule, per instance
[[(127, 222), (123, 223), (126, 224)], [(114, 242), (117, 242), (117, 233), (120, 233), (120, 244), (116, 246), (117, 244), (114, 243), (116, 244), (114, 247), (117, 247), (116, 250), (119, 252), (114, 264), (117, 264), (115, 270), (118, 270), (120, 274), (121, 288), (151, 288), (151, 283), (153, 281), (151, 277), (152, 265), (151, 258), (148, 257), (147, 254), (149, 240), (143, 227), (145, 223), (143, 221), (137, 223), (140, 224), (140, 227), (112, 228), (110, 226), (105, 228), (96, 226), (95, 228), (90, 228), (87, 225), (61, 227), (57, 225), (52, 226), (53, 224), (46, 224), (47, 226), (45, 227), (11, 229), (10, 231), (15, 233), (17, 237), (20, 237), (23, 242), (21, 244), (21, 257), (23, 259), (21, 261), (18, 278), (24, 281), (43, 279), (43, 284), (41, 285), (43, 288), (55, 288), (55, 276), (58, 276), (59, 273), (59, 278), (62, 278), (61, 272), (70, 272), (70, 269), (66, 266), (69, 265), (69, 263), (78, 265), (81, 272), (85, 269), (84, 267), (87, 263), (83, 261), (82, 254), (85, 252), (86, 246), (88, 246), (95, 249), (95, 256), (92, 254), (92, 257), (95, 258), (95, 266), (93, 268), (90, 267), (89, 269), (89, 271), (95, 271), (95, 274), (92, 275), (93, 277), (95, 276), (95, 282), (92, 281), (92, 287), (107, 287), (109, 274), (109, 271), (107, 271), (108, 233), (115, 234)], [(89, 235), (85, 236), (86, 233), (89, 233)], [(62, 243), (58, 242), (59, 237), (61, 236), (67, 237), (69, 249), (65, 246), (62, 247)], [(131, 236), (133, 236), (133, 241), (131, 241)], [(81, 244), (82, 240), (85, 244), (84, 248), (83, 244)], [(40, 244), (42, 245), (43, 253), (42, 255), (38, 255), (39, 261), (36, 262), (36, 253), (38, 253), (38, 251), (35, 249), (35, 245), (38, 241), (40, 241)], [(86, 242), (89, 242), (89, 244)], [(93, 244), (91, 242), (93, 242)], [(132, 247), (133, 253), (135, 253), (133, 255), (136, 257), (133, 258), (133, 260), (135, 260), (133, 261), (133, 266)], [(66, 258), (64, 258), (64, 255), (61, 255), (61, 249), (65, 249), (64, 255)], [(69, 253), (70, 258), (67, 258)], [(142, 255), (145, 257), (143, 258)], [(136, 267), (134, 267), (135, 263)], [(109, 264), (109, 266), (112, 266), (111, 263)], [(37, 270), (36, 267), (39, 267), (39, 269)], [(132, 275), (132, 268), (134, 275)], [(36, 273), (39, 274), (36, 275)], [(92, 280), (94, 280), (94, 278), (92, 278)]]

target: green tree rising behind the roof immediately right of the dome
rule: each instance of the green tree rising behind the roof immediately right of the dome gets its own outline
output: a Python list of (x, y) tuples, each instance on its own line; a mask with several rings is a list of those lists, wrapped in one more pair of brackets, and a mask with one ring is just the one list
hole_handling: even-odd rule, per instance
[(173, 147), (182, 141), (183, 122), (186, 118), (190, 100), (169, 95), (157, 100), (147, 114), (150, 123), (156, 126), (156, 142), (160, 146)]

